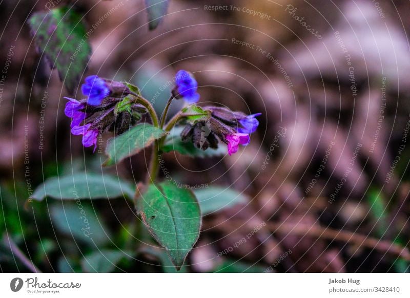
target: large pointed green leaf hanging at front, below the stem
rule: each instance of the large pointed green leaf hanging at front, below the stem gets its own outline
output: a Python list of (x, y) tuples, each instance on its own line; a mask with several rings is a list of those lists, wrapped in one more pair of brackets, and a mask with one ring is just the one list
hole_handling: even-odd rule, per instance
[(179, 270), (198, 240), (201, 227), (201, 212), (192, 191), (170, 182), (150, 184), (138, 199), (137, 210)]

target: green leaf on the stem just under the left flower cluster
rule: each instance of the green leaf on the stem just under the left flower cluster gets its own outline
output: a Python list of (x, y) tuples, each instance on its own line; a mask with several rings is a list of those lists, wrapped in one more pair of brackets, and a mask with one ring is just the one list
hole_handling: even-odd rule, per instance
[(104, 165), (113, 165), (137, 154), (142, 148), (149, 146), (154, 140), (166, 134), (165, 131), (151, 124), (138, 124), (124, 134), (108, 140), (106, 154), (109, 157)]

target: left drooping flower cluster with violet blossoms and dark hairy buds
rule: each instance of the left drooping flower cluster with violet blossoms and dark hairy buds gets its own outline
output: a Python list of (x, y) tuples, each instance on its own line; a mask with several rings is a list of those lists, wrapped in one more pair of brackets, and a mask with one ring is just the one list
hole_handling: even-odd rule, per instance
[[(131, 91), (121, 82), (89, 76), (81, 91), (87, 98), (76, 100), (65, 97), (69, 101), (64, 112), (71, 118), (71, 133), (83, 135), (83, 145), (94, 145), (94, 152), (99, 134), (114, 131), (119, 135), (134, 125), (141, 114), (147, 112), (142, 105), (127, 99)], [(128, 109), (119, 110), (121, 102), (129, 102)]]

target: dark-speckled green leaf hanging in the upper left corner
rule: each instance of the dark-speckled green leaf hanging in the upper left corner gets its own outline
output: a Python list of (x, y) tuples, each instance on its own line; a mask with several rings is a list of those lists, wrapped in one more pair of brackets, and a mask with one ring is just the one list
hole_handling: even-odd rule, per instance
[(51, 69), (57, 68), (71, 94), (86, 71), (91, 54), (82, 17), (64, 6), (34, 13), (29, 19), (39, 52), (45, 55)]

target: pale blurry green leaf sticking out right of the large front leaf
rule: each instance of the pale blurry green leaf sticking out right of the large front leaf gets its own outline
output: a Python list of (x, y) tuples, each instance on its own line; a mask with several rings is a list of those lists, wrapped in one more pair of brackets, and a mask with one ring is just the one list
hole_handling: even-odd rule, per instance
[(202, 215), (207, 215), (237, 204), (246, 204), (248, 198), (238, 191), (226, 187), (210, 187), (194, 190)]

